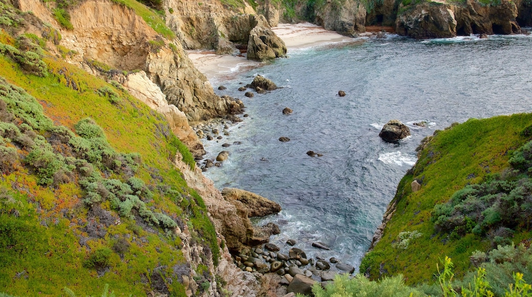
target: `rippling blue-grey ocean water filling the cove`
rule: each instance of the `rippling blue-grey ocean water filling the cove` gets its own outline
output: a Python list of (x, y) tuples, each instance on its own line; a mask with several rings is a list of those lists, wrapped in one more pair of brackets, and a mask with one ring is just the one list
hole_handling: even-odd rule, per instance
[[(532, 112), (530, 48), (532, 36), (525, 35), (423, 41), (389, 35), (291, 51), (234, 79), (213, 79), (213, 86), (227, 87), (219, 95), (244, 101), (249, 117), (219, 141), (204, 139), (207, 158), (230, 152), (205, 174), (220, 189), (246, 189), (281, 205), (279, 215), (254, 221), (280, 226), (271, 242), (281, 251), (293, 238), (309, 257), (358, 267), (423, 137), (469, 118)], [(282, 88), (253, 98), (238, 92), (257, 74)], [(294, 113), (282, 114), (285, 107)], [(412, 135), (383, 142), (378, 134), (390, 119)], [(420, 121), (427, 127), (413, 125)], [(310, 150), (323, 156), (312, 158)], [(314, 241), (332, 250), (312, 248)]]

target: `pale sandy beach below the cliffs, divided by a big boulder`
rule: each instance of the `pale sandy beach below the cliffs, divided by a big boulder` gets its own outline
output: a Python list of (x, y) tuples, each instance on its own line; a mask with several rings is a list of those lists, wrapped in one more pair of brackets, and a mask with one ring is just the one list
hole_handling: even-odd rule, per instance
[[(312, 23), (278, 24), (272, 30), (285, 42), (288, 54), (290, 50), (354, 40)], [(261, 65), (244, 56), (217, 55), (214, 51), (188, 51), (188, 57), (209, 80), (230, 79), (238, 72)]]

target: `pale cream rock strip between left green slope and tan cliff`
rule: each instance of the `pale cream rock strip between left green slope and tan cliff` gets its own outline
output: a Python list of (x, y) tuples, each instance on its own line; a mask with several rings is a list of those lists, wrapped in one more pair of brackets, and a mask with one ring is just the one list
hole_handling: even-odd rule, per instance
[(161, 89), (146, 76), (144, 71), (131, 73), (123, 83), (128, 92), (144, 102), (153, 110), (164, 114), (170, 124), (170, 130), (190, 149), (194, 156), (205, 154), (203, 145), (196, 133), (188, 125), (185, 113), (175, 105), (168, 104)]

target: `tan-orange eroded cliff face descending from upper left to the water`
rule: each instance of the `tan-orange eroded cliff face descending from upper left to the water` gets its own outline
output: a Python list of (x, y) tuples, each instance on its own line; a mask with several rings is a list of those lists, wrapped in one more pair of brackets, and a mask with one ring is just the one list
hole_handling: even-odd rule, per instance
[[(31, 10), (57, 29), (43, 3), (20, 0), (21, 10)], [(189, 121), (223, 117), (228, 104), (214, 94), (179, 42), (159, 36), (134, 11), (106, 0), (88, 0), (69, 10), (73, 30), (61, 30), (61, 45), (76, 51), (71, 62), (85, 69), (96, 60), (117, 70), (144, 70)], [(173, 43), (173, 45), (170, 45)]]

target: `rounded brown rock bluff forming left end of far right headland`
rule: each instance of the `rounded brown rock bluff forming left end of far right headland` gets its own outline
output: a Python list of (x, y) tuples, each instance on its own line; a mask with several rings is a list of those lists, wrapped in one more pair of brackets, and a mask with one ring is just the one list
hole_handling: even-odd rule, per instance
[(425, 2), (397, 15), (395, 30), (416, 39), (455, 37), (456, 19), (450, 5)]

